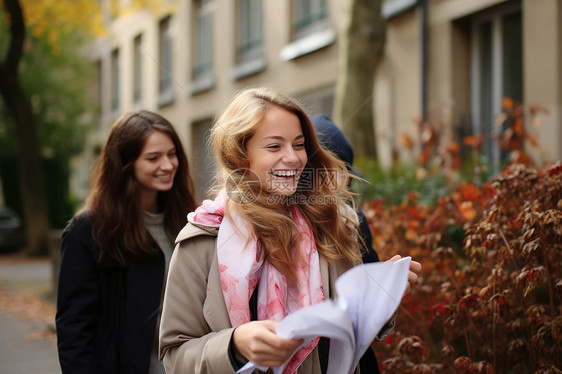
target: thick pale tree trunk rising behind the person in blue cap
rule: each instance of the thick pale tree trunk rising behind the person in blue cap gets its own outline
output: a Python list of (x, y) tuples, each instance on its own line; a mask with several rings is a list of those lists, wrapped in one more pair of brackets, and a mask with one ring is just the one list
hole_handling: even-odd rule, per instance
[(381, 1), (348, 0), (340, 32), (333, 118), (358, 158), (377, 157), (373, 91), (385, 41)]

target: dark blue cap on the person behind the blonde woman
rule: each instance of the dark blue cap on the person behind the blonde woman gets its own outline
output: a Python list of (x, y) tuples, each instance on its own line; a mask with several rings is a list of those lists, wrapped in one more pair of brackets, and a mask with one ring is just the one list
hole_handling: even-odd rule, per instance
[(325, 114), (310, 116), (310, 121), (314, 125), (316, 136), (322, 147), (342, 160), (351, 174), (362, 178), (363, 175), (351, 166), (353, 165), (353, 149), (340, 128)]

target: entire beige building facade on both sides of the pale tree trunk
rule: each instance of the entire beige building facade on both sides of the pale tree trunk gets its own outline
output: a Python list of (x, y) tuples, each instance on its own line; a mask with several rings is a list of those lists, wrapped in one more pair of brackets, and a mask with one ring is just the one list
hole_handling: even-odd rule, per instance
[[(121, 113), (149, 109), (176, 126), (199, 199), (214, 174), (207, 131), (236, 91), (273, 86), (309, 114), (332, 113), (347, 1), (167, 0), (117, 15), (108, 3), (107, 35), (88, 48), (99, 128), (76, 161), (79, 198), (85, 166)], [(382, 12), (385, 53), (368, 99), (383, 162), (435, 108), (446, 108), (449, 137), (482, 133), (483, 152), (500, 157), (493, 121), (505, 96), (548, 110), (533, 131), (544, 157), (562, 159), (562, 0), (384, 0)]]

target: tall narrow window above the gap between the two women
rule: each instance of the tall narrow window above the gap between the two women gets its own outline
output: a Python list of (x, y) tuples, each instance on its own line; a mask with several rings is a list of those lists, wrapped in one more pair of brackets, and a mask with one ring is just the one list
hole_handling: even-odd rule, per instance
[(211, 0), (196, 1), (195, 61), (193, 77), (208, 74), (213, 67), (213, 14)]

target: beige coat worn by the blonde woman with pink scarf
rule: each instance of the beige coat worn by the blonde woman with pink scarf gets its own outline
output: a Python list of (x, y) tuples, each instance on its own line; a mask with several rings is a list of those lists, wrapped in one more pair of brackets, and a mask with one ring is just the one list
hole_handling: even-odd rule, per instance
[[(216, 228), (188, 223), (176, 239), (160, 325), (160, 358), (168, 374), (235, 372), (228, 356), (234, 329), (221, 289), (217, 233)], [(351, 267), (344, 262), (328, 264), (320, 257), (326, 296), (335, 296), (335, 280)], [(318, 348), (298, 373), (321, 373)]]

